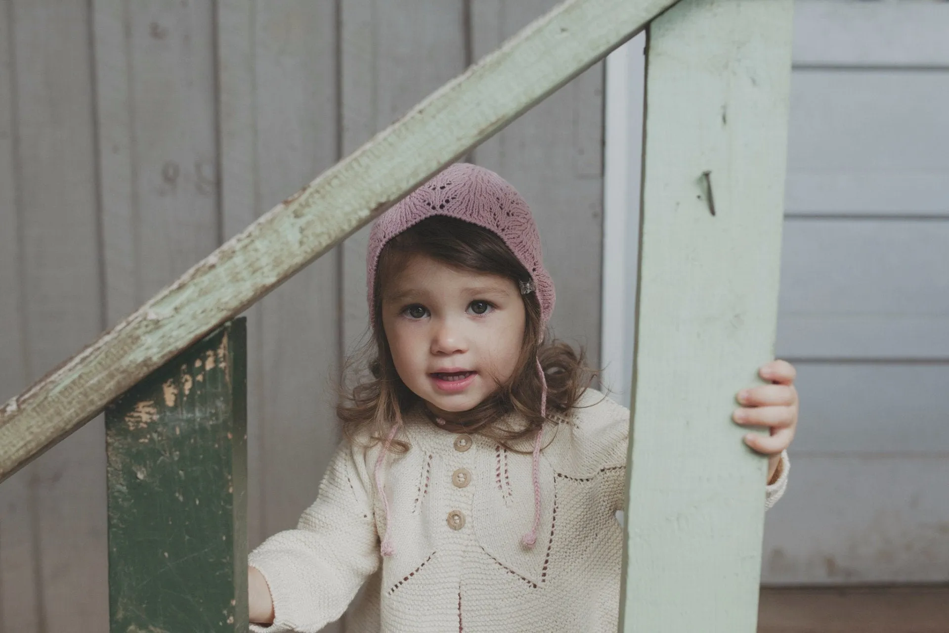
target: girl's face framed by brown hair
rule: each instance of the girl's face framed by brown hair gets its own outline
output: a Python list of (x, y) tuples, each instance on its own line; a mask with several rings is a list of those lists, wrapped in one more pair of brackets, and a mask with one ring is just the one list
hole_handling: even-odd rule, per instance
[(382, 327), (402, 382), (446, 419), (517, 368), (525, 310), (511, 279), (412, 255), (382, 289)]

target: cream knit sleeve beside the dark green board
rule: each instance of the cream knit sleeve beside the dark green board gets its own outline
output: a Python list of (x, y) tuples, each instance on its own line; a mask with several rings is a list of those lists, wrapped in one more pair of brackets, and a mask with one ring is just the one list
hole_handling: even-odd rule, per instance
[(251, 624), (251, 632), (315, 633), (343, 615), (380, 566), (371, 491), (363, 450), (344, 443), (296, 530), (278, 532), (251, 552), (274, 611), (273, 624)]

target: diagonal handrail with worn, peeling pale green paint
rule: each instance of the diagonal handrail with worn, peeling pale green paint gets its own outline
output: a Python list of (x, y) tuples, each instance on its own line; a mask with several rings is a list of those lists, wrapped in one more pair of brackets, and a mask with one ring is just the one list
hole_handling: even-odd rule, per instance
[(605, 57), (676, 0), (568, 0), (0, 409), (0, 481)]

